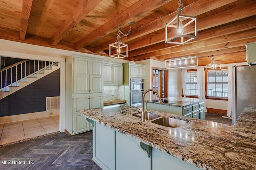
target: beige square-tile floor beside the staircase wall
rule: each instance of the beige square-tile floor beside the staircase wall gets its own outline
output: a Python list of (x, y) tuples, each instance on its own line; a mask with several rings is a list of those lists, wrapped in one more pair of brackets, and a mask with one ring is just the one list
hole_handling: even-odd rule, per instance
[(59, 131), (59, 115), (0, 124), (0, 145)]

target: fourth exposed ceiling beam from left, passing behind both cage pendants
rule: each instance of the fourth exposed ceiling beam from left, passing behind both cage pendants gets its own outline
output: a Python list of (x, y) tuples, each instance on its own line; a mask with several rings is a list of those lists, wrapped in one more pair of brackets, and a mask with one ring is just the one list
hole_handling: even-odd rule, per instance
[[(208, 12), (210, 10), (214, 10), (218, 7), (224, 6), (226, 4), (232, 3), (236, 0), (222, 0), (222, 1), (216, 1), (216, 0), (197, 0), (194, 3), (184, 7), (184, 11), (186, 12), (186, 15), (188, 16), (197, 16), (200, 14), (203, 14), (204, 12)], [(122, 37), (122, 42), (131, 41), (133, 39), (136, 39), (138, 37), (141, 37), (143, 35), (152, 33), (154, 31), (157, 31), (159, 29), (162, 29), (165, 27), (165, 25), (176, 16), (177, 12), (173, 12), (171, 14), (168, 14), (166, 16), (162, 16), (161, 18), (158, 18), (157, 20), (154, 20), (146, 25), (143, 25), (142, 27), (139, 27), (137, 29), (134, 29), (131, 31), (131, 33), (127, 37)], [(108, 49), (108, 45), (110, 43), (114, 43), (116, 39), (112, 39), (102, 45), (99, 45), (95, 48), (95, 53), (99, 51), (104, 51)], [(147, 41), (148, 43), (148, 41)]]

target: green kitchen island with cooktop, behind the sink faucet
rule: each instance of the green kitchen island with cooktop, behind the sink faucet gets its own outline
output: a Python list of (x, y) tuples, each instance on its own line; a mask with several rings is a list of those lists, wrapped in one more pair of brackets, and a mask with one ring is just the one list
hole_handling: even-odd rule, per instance
[(168, 97), (161, 98), (161, 100), (162, 105), (159, 104), (158, 100), (146, 100), (146, 109), (204, 120), (205, 100), (183, 97)]

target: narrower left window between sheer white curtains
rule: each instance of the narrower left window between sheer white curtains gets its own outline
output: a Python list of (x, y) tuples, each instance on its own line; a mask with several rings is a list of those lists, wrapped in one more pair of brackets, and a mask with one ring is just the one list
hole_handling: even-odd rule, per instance
[(198, 96), (196, 72), (187, 72), (186, 96)]

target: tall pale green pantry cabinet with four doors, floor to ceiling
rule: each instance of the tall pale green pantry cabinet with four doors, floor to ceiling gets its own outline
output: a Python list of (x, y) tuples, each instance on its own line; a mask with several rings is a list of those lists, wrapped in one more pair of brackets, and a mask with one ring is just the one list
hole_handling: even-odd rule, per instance
[(66, 58), (65, 131), (75, 135), (92, 129), (76, 110), (103, 106), (103, 60), (72, 55)]

